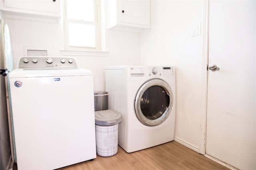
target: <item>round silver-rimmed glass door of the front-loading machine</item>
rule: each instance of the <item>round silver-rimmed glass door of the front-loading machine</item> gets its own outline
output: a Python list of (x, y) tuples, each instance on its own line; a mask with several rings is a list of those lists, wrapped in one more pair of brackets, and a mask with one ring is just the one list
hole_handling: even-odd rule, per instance
[(138, 90), (134, 102), (135, 113), (141, 123), (155, 126), (164, 122), (172, 111), (173, 94), (163, 80), (151, 79)]

